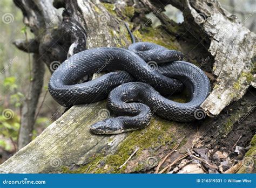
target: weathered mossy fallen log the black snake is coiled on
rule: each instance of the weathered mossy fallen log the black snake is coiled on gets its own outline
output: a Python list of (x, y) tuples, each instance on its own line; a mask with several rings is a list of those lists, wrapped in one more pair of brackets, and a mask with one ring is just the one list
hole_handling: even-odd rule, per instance
[[(255, 116), (255, 90), (250, 89), (244, 98), (240, 98), (252, 81), (252, 73), (246, 68), (246, 63), (251, 65), (255, 56), (252, 50), (255, 34), (222, 9), (218, 2), (161, 2), (163, 4), (153, 0), (139, 0), (136, 3), (124, 1), (116, 4), (82, 0), (56, 1), (53, 3), (56, 8), (65, 8), (62, 26), (57, 24), (56, 29), (64, 38), (60, 39), (63, 43), (59, 45), (69, 46), (65, 52), (66, 56), (84, 50), (85, 45), (87, 48), (126, 47), (130, 44), (130, 38), (122, 21), (125, 20), (129, 22), (138, 40), (152, 41), (180, 50), (186, 55), (187, 61), (207, 72), (213, 72), (217, 77), (217, 81), (213, 83), (215, 87), (201, 107), (209, 115), (217, 116), (191, 123), (166, 121), (154, 116), (149, 127), (144, 130), (114, 136), (98, 136), (90, 133), (89, 126), (100, 120), (102, 112), (109, 113), (106, 102), (74, 106), (35, 140), (3, 163), (0, 166), (1, 171), (152, 172), (160, 159), (177, 143), (180, 143), (178, 151), (166, 163), (174, 161), (191, 147), (232, 151), (233, 144), (240, 136), (236, 133), (243, 136), (238, 144), (248, 145), (255, 131), (255, 123), (246, 126), (246, 121), (240, 119), (243, 116), (249, 119)], [(169, 2), (183, 11), (183, 24), (176, 24), (164, 15), (164, 6)], [(25, 5), (26, 11), (31, 11), (32, 6), (29, 3)], [(56, 9), (51, 7), (51, 12), (47, 11), (49, 9), (45, 14)], [(145, 15), (149, 12), (154, 12), (161, 21), (161, 26), (153, 29), (145, 25), (148, 21)], [(26, 17), (25, 14), (24, 16)], [(49, 17), (52, 18), (52, 15)], [(55, 30), (50, 33), (55, 36)], [(55, 41), (54, 37), (51, 39)], [(48, 43), (53, 44), (52, 41)], [(39, 41), (39, 46), (44, 44), (43, 39)], [(39, 53), (43, 52), (42, 49), (46, 48), (39, 47)], [(52, 48), (46, 50), (49, 57), (44, 57), (45, 62), (51, 62), (49, 59), (54, 57), (50, 54), (51, 51), (55, 52)], [(177, 96), (173, 96), (173, 100), (177, 100)], [(180, 102), (185, 100), (179, 99)], [(239, 101), (231, 103), (234, 100)], [(225, 139), (227, 137), (229, 142)], [(215, 145), (216, 143), (218, 145)], [(136, 155), (119, 168), (137, 148), (139, 149)]]

